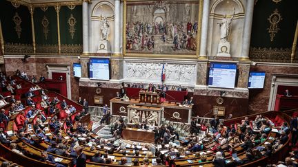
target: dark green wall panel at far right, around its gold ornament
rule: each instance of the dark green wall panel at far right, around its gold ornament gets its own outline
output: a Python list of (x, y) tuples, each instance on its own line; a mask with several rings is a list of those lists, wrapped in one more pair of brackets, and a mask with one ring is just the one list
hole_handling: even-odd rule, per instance
[[(282, 0), (275, 3), (272, 0), (257, 1), (252, 21), (252, 36), (250, 47), (290, 48), (295, 34), (298, 19), (297, 0)], [(275, 9), (281, 14), (282, 20), (278, 23), (278, 32), (273, 41), (270, 41), (268, 18)]]

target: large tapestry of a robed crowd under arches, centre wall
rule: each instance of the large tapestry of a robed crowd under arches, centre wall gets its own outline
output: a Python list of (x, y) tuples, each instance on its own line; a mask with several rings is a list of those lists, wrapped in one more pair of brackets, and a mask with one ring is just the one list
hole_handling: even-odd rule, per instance
[(128, 53), (195, 54), (199, 1), (127, 3)]

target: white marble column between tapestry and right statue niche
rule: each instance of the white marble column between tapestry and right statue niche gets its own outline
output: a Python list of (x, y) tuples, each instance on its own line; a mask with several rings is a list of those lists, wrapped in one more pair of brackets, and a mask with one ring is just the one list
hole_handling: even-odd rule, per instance
[(199, 58), (207, 57), (207, 38), (208, 38), (208, 20), (209, 20), (209, 5), (210, 0), (203, 0), (203, 16), (201, 23), (201, 46)]

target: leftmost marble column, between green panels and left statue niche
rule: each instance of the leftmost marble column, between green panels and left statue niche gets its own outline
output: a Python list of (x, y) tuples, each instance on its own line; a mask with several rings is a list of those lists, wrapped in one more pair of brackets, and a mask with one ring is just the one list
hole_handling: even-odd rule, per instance
[(83, 54), (88, 53), (88, 1), (83, 0)]

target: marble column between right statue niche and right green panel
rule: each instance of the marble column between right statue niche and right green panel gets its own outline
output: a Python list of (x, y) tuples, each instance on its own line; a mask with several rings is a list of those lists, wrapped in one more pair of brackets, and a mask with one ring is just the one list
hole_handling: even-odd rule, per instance
[(244, 19), (244, 33), (242, 41), (241, 59), (248, 60), (249, 48), (250, 48), (250, 34), (252, 30), (252, 16), (254, 10), (255, 1), (246, 1), (246, 14)]

